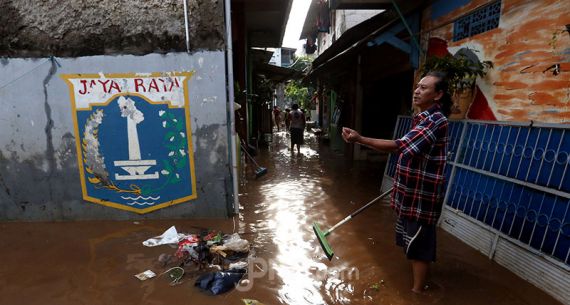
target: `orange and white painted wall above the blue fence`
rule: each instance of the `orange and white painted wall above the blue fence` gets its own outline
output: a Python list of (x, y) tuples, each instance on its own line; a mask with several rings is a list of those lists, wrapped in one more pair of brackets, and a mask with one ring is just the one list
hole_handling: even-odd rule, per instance
[[(497, 120), (570, 123), (570, 34), (565, 27), (570, 24), (570, 2), (503, 0), (498, 28), (453, 42), (452, 21), (489, 2), (473, 0), (436, 20), (428, 8), (423, 41), (440, 38), (451, 54), (468, 47), (478, 51), (480, 60), (493, 62), (495, 67), (477, 86)], [(558, 75), (548, 70), (556, 64)], [(475, 115), (468, 118), (479, 119), (473, 117), (477, 111), (471, 113)]]

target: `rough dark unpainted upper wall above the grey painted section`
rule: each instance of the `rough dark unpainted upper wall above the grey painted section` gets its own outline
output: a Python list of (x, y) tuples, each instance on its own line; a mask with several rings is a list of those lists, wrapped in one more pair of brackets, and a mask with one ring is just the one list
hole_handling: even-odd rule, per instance
[[(0, 56), (77, 57), (186, 50), (184, 1), (0, 1)], [(188, 0), (190, 48), (224, 46), (223, 1)]]

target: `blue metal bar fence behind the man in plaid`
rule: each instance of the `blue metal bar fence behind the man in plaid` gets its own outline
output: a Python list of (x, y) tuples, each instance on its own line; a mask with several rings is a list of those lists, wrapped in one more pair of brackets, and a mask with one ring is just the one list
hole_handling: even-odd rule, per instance
[[(444, 207), (570, 268), (570, 126), (450, 121)], [(394, 137), (411, 127), (401, 116)], [(393, 177), (391, 155), (385, 176)], [(492, 256), (492, 255), (490, 255)]]

